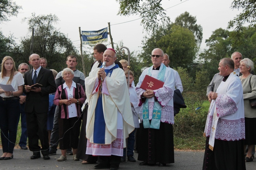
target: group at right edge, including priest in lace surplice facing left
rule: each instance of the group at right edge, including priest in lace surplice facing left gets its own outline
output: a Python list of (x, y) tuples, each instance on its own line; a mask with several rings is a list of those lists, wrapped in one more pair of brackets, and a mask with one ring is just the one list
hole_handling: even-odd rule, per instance
[(240, 52), (219, 62), (219, 73), (207, 87), (211, 105), (204, 130), (203, 169), (245, 170), (245, 163), (253, 161), (256, 144), (253, 128), (256, 110), (250, 104), (256, 97), (253, 69), (253, 62), (243, 59)]

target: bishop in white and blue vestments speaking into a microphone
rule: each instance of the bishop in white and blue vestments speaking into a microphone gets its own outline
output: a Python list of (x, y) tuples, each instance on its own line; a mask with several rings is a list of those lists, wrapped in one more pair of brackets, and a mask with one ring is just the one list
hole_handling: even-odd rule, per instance
[(118, 169), (125, 138), (134, 130), (129, 91), (124, 71), (114, 64), (116, 53), (103, 54), (104, 68), (92, 70), (85, 79), (88, 99), (86, 154), (100, 156), (95, 169)]

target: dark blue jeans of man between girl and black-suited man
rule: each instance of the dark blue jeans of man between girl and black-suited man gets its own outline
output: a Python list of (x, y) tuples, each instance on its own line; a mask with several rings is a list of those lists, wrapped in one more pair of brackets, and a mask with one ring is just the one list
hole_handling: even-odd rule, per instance
[[(28, 139), (28, 131), (27, 131), (27, 120), (26, 120), (26, 114), (24, 112), (25, 103), (20, 104), (20, 123), (21, 123), (21, 135), (19, 139), (19, 146), (26, 146), (27, 145), (27, 139)], [(19, 119), (19, 118), (18, 118)], [(19, 120), (18, 120), (19, 122)]]

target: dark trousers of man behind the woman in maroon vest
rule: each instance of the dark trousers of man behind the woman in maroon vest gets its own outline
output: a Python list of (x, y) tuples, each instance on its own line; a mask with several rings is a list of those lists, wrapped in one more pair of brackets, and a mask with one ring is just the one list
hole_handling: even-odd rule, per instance
[(50, 150), (57, 151), (59, 145), (59, 124), (58, 124), (59, 106), (56, 106), (54, 118), (53, 118), (53, 129), (50, 138)]

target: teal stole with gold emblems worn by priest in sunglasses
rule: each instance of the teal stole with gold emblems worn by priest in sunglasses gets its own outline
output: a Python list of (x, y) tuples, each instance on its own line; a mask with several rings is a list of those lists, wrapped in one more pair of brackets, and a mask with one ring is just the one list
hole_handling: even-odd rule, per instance
[[(151, 71), (153, 70), (153, 66), (148, 69), (147, 75), (151, 76)], [(165, 78), (165, 70), (166, 67), (162, 66), (160, 67), (159, 73), (157, 75), (157, 79), (164, 82)], [(159, 102), (154, 100), (154, 108), (153, 108), (153, 115), (151, 123), (149, 121), (149, 115), (148, 115), (148, 99), (146, 98), (146, 101), (143, 103), (143, 126), (144, 128), (153, 128), (153, 129), (159, 129), (160, 128), (160, 120), (161, 120), (161, 111), (162, 106), (159, 104)]]

